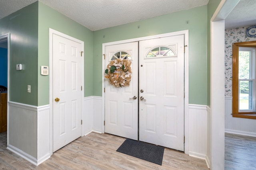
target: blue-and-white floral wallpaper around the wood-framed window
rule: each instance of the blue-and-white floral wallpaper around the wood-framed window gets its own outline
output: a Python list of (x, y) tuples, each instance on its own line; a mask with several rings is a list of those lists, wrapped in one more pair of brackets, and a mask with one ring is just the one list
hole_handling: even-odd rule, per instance
[(246, 35), (248, 27), (225, 30), (225, 96), (232, 96), (232, 43), (256, 41), (256, 37)]

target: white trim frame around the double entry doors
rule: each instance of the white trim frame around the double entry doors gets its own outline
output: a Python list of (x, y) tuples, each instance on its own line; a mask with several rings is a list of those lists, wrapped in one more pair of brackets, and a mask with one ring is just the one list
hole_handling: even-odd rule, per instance
[[(175, 35), (184, 35), (184, 45), (186, 45), (185, 53), (184, 53), (184, 137), (186, 138), (184, 142), (184, 153), (188, 154), (188, 87), (189, 87), (189, 74), (188, 74), (188, 29), (183, 31), (176, 31), (172, 33), (164, 33), (164, 34), (158, 34), (158, 35), (152, 35), (147, 37), (139, 37), (134, 39), (126, 39), (121, 41), (114, 41), (109, 43), (103, 43), (102, 44), (102, 70), (105, 70), (105, 61), (104, 61), (104, 53), (105, 53), (105, 47), (108, 45), (117, 45), (122, 43), (131, 43), (135, 41), (142, 41), (142, 40), (148, 40), (148, 39), (155, 39), (155, 38), (162, 38), (162, 37), (170, 37)], [(104, 93), (104, 87), (105, 87), (105, 73), (102, 71), (102, 133), (105, 133), (105, 126), (104, 126), (104, 120), (105, 120), (105, 93)]]

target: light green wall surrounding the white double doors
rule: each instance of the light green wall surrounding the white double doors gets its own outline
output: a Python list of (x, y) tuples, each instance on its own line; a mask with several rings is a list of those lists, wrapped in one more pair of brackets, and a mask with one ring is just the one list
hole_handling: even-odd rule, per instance
[(189, 30), (189, 103), (206, 105), (207, 6), (94, 31), (93, 95), (102, 96), (102, 43), (186, 29)]

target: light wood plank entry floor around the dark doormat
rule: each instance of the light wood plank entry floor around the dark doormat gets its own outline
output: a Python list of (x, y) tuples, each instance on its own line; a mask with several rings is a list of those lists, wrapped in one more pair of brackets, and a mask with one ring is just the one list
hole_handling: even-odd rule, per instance
[(0, 133), (0, 170), (208, 170), (205, 160), (164, 149), (162, 166), (116, 152), (125, 138), (90, 133), (66, 145), (39, 166), (7, 150)]

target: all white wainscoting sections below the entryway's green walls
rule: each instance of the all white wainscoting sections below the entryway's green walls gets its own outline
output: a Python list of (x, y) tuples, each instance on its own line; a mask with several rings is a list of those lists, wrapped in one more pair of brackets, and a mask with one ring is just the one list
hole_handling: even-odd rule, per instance
[[(102, 97), (84, 98), (82, 134), (104, 133)], [(8, 102), (8, 149), (39, 165), (52, 155), (52, 115), (50, 106), (30, 106)], [(210, 109), (203, 105), (190, 104), (188, 108), (188, 143), (190, 156), (202, 158), (209, 164), (210, 158)], [(207, 155), (207, 156), (206, 156)]]

